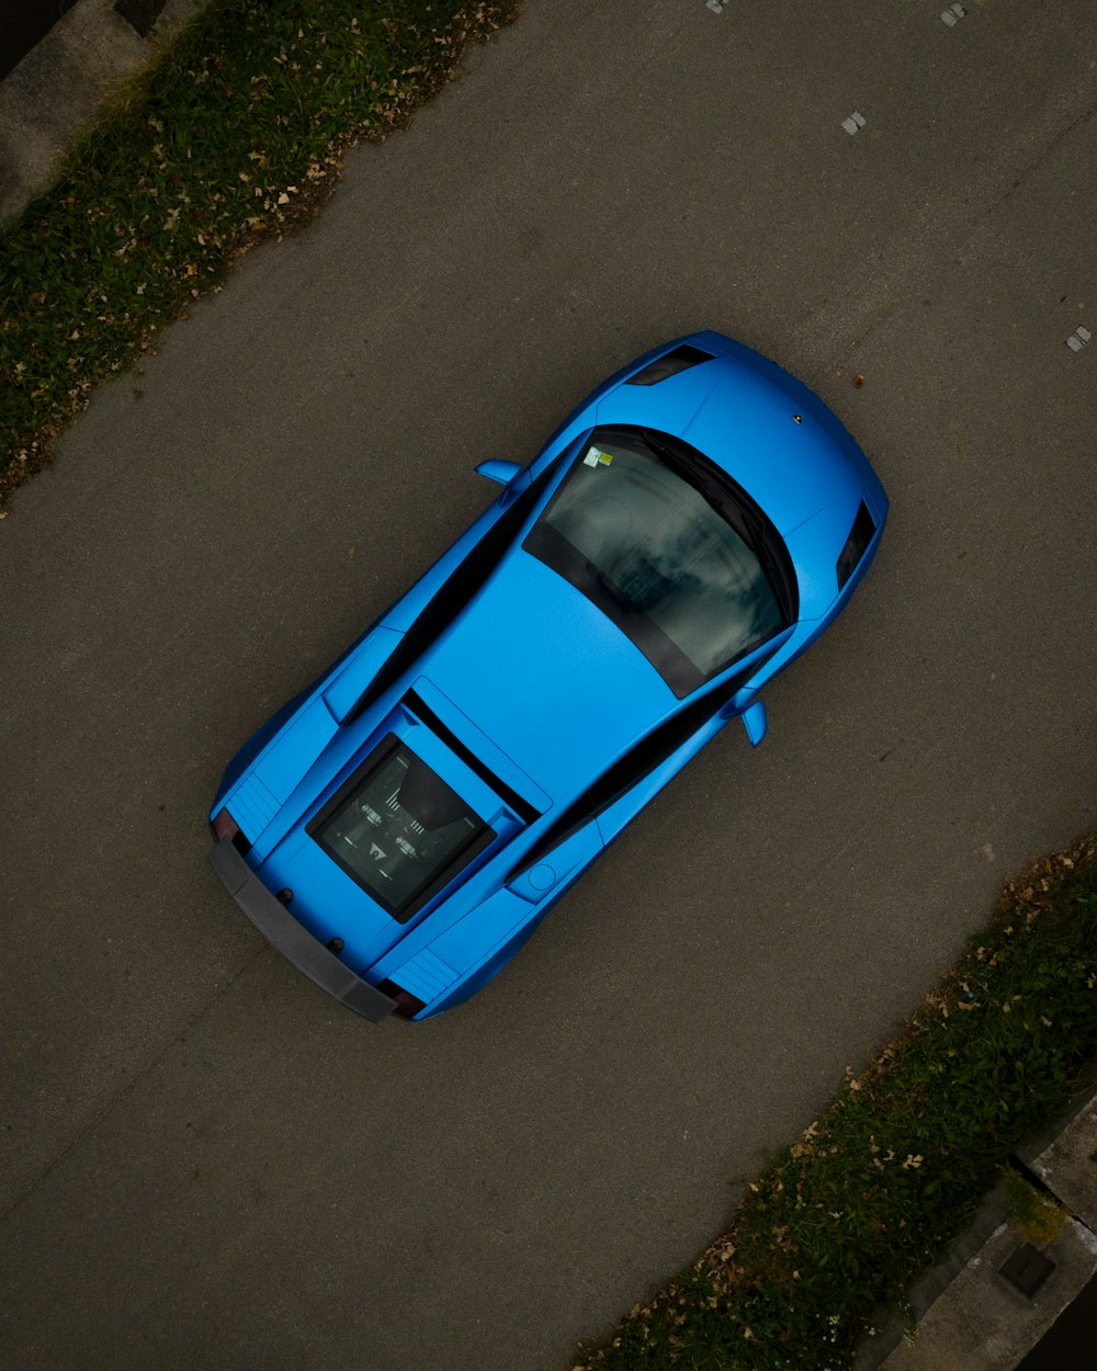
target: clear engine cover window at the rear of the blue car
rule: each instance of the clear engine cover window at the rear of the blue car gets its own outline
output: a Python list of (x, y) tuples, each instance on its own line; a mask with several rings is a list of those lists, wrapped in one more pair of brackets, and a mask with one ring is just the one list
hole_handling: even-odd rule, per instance
[(400, 920), (410, 919), (495, 838), (394, 733), (306, 832)]

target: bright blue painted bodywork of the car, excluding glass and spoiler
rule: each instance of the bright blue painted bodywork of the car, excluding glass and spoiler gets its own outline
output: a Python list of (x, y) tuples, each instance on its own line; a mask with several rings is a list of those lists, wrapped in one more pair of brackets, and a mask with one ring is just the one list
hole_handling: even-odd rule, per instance
[[(643, 381), (649, 363), (683, 345), (687, 352), (660, 369), (682, 367), (675, 374), (655, 384), (629, 381)], [(795, 621), (684, 699), (576, 585), (521, 547), (572, 463), (583, 461), (591, 432), (606, 425), (658, 430), (701, 451), (761, 507), (793, 561)], [(466, 999), (495, 975), (603, 847), (730, 718), (750, 710), (747, 731), (761, 742), (760, 687), (834, 621), (864, 577), (887, 514), (887, 496), (867, 458), (823, 402), (782, 367), (712, 332), (664, 344), (610, 377), (525, 470), (498, 461), (481, 470), (506, 483), (498, 499), (329, 672), (241, 749), (211, 813), (228, 808), (252, 845), (248, 864), (270, 890), (293, 891), (291, 912), (315, 938), (343, 941), (340, 956), (351, 969), (424, 1001), (417, 1017)], [(861, 502), (876, 533), (839, 594), (836, 563)], [(499, 548), (496, 526), (507, 531)], [(491, 557), (469, 576), (488, 547)], [(455, 587), (472, 588), (457, 594)], [(447, 606), (442, 616), (440, 603)], [(417, 717), (415, 696), (433, 724)], [(684, 736), (673, 724), (673, 736), (665, 729), (658, 735), (671, 738), (669, 744), (640, 749), (643, 765), (628, 762), (638, 743), (682, 710), (691, 710)], [(405, 921), (391, 917), (307, 832), (333, 797), (352, 792), (365, 760), (389, 736), (494, 835)], [(599, 777), (621, 760), (631, 776), (625, 788), (583, 809), (601, 794)], [(612, 772), (620, 773), (620, 766)], [(392, 802), (399, 805), (399, 794)], [(346, 803), (335, 801), (336, 808)], [(568, 827), (577, 805), (588, 817)], [(557, 836), (546, 838), (548, 832)]]

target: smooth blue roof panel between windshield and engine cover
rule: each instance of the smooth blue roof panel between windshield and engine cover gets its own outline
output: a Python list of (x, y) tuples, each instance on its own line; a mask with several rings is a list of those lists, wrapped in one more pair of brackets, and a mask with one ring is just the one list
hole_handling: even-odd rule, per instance
[(676, 703), (643, 653), (521, 548), (424, 655), (420, 672), (555, 805)]

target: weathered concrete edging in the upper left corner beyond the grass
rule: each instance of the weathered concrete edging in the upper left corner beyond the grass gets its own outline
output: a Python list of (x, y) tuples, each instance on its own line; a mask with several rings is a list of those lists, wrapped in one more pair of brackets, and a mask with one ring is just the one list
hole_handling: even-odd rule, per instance
[(58, 180), (103, 100), (143, 70), (211, 0), (167, 0), (147, 37), (115, 0), (78, 0), (0, 82), (0, 222)]

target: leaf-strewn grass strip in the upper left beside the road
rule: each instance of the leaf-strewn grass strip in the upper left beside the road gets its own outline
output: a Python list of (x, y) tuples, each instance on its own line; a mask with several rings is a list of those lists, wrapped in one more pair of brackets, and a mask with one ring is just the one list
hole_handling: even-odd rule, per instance
[(226, 0), (108, 103), (0, 236), (0, 500), (93, 385), (332, 191), (511, 0)]

